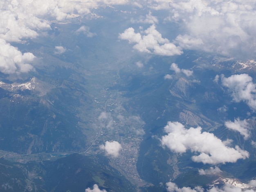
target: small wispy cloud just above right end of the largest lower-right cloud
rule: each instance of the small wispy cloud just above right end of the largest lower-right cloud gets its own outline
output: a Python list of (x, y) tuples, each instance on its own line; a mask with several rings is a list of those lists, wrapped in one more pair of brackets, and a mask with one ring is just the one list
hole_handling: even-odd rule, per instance
[(226, 121), (225, 126), (228, 129), (239, 132), (241, 135), (244, 136), (245, 139), (249, 137), (249, 123), (247, 123), (246, 119), (241, 121), (239, 118), (237, 118), (234, 122)]

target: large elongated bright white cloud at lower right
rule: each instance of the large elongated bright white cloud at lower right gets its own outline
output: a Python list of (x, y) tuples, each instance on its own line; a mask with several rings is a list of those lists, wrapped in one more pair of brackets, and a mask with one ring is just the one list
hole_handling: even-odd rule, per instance
[(201, 127), (186, 129), (179, 122), (169, 121), (164, 130), (167, 135), (162, 136), (160, 140), (162, 146), (180, 154), (186, 150), (200, 153), (192, 156), (192, 160), (195, 162), (204, 164), (235, 163), (238, 159), (249, 157), (249, 153), (241, 150), (240, 147), (229, 147), (231, 140), (221, 141), (212, 133), (201, 132)]

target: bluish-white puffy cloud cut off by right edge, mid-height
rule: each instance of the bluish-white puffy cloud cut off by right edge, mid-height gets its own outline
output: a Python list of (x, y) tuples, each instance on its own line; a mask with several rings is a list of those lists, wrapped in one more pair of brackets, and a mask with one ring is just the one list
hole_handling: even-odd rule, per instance
[(234, 102), (244, 101), (253, 110), (256, 109), (256, 89), (252, 77), (248, 74), (231, 75), (225, 78), (221, 75), (222, 86), (231, 92)]

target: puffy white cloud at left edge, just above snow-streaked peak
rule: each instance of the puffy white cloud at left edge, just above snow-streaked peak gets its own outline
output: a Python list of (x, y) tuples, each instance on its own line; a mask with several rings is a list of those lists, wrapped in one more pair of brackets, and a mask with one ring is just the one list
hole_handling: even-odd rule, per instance
[(25, 73), (33, 70), (32, 53), (22, 54), (16, 47), (0, 39), (0, 71), (4, 74)]

